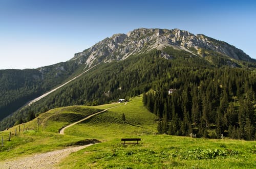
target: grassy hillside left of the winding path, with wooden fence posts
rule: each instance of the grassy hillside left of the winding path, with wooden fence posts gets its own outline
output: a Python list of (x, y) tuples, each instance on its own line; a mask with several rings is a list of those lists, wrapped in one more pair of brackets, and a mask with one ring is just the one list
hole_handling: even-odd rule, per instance
[[(100, 110), (99, 108), (89, 106), (55, 108), (19, 127), (14, 126), (6, 131), (2, 131), (0, 136), (4, 137), (4, 147), (0, 147), (0, 160), (63, 149), (67, 146), (76, 145), (81, 141), (84, 142), (84, 140), (87, 140), (84, 137), (60, 135), (58, 132), (62, 127), (86, 118)], [(39, 128), (37, 128), (37, 119), (39, 119)], [(27, 127), (28, 131), (24, 131), (24, 129), (27, 130)], [(15, 129), (17, 136), (14, 135)], [(10, 131), (12, 134), (11, 141), (9, 142)]]

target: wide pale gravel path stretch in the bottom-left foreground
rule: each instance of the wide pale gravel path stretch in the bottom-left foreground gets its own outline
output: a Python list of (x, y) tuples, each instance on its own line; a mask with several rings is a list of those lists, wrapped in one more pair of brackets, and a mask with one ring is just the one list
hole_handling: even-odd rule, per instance
[(34, 154), (12, 161), (4, 160), (0, 162), (0, 168), (57, 168), (55, 164), (57, 164), (61, 159), (67, 157), (72, 152), (76, 152), (91, 145), (93, 144), (79, 147), (69, 147), (67, 149), (55, 150), (41, 154)]

